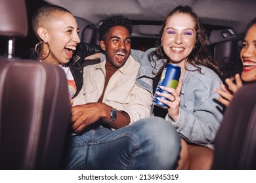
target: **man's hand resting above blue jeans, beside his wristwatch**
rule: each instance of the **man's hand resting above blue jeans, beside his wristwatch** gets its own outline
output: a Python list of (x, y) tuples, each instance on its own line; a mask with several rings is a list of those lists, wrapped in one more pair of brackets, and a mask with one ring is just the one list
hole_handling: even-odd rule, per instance
[[(79, 132), (88, 125), (94, 124), (100, 118), (109, 116), (110, 107), (104, 103), (87, 103), (72, 107), (72, 128), (74, 132)], [(108, 112), (108, 113), (107, 113)]]

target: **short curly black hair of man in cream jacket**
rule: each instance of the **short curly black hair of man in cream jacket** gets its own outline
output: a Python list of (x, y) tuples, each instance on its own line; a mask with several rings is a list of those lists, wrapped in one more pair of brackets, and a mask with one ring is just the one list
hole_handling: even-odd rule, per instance
[(99, 25), (100, 40), (104, 40), (106, 33), (114, 26), (126, 27), (130, 35), (133, 33), (133, 24), (131, 24), (129, 18), (125, 18), (122, 15), (110, 16), (110, 18), (103, 20)]

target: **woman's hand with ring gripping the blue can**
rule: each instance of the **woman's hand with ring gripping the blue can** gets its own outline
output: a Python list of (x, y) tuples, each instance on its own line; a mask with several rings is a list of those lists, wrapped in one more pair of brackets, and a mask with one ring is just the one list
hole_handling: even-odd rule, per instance
[(165, 99), (160, 99), (160, 97), (158, 97), (158, 100), (161, 103), (165, 103), (168, 106), (168, 115), (173, 120), (173, 122), (177, 122), (179, 120), (181, 87), (182, 87), (182, 77), (179, 79), (179, 84), (176, 90), (174, 88), (170, 88), (167, 86), (160, 86), (162, 90), (165, 90), (166, 92), (169, 92), (169, 93), (160, 93), (160, 92), (156, 93), (157, 95), (163, 96), (168, 99), (168, 100), (165, 100)]

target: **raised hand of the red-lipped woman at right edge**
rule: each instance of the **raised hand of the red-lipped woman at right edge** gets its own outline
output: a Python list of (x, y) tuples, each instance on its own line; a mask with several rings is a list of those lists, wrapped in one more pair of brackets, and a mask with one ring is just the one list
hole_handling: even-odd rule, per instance
[(226, 78), (225, 82), (228, 85), (228, 88), (224, 86), (224, 84), (221, 84), (221, 90), (218, 88), (215, 88), (215, 92), (221, 95), (221, 97), (218, 97), (217, 100), (220, 103), (223, 103), (226, 107), (230, 104), (230, 101), (234, 97), (234, 93), (236, 93), (242, 86), (242, 79), (239, 74), (236, 74), (235, 76), (236, 84), (232, 82), (232, 79)]

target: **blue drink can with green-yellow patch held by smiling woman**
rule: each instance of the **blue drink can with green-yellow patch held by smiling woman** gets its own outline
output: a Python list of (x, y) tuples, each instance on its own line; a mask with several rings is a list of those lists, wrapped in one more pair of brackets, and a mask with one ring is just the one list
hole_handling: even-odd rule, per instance
[[(179, 84), (180, 76), (181, 76), (181, 67), (179, 67), (177, 65), (174, 65), (174, 64), (171, 64), (171, 63), (168, 63), (165, 66), (165, 68), (163, 69), (163, 73), (161, 73), (160, 82), (158, 83), (158, 87), (156, 88), (156, 92), (169, 93), (169, 92), (166, 92), (165, 90), (161, 90), (160, 86), (169, 86), (170, 88), (176, 89), (178, 84)], [(154, 105), (157, 105), (157, 106), (162, 107), (162, 108), (168, 108), (167, 105), (158, 101), (157, 97), (159, 97), (161, 99), (168, 100), (167, 98), (162, 97), (162, 96), (158, 96), (155, 93), (154, 94), (154, 99), (153, 99)]]

